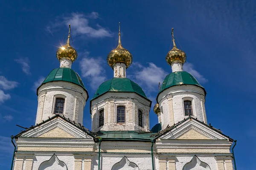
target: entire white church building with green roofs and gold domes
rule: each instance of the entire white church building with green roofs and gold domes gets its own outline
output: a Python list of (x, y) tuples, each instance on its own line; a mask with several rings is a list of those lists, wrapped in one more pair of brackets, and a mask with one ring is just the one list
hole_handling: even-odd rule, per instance
[[(70, 45), (69, 30), (66, 45), (56, 54), (60, 67), (37, 88), (35, 125), (12, 137), (17, 146), (12, 169), (236, 170), (236, 140), (207, 124), (207, 92), (183, 71), (186, 54), (177, 48), (173, 29), (172, 41), (166, 55), (172, 73), (160, 86), (153, 107), (158, 124), (150, 128), (152, 102), (126, 77), (132, 54), (122, 46), (120, 25), (118, 46), (107, 56), (113, 78), (90, 97), (71, 69), (78, 54)], [(83, 125), (86, 104), (91, 127)]]

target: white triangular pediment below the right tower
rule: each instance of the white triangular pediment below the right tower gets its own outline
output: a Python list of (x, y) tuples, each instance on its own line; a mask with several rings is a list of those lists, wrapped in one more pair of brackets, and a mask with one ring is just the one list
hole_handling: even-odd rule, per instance
[(228, 138), (197, 120), (188, 119), (163, 136), (160, 136), (159, 139), (223, 140)]

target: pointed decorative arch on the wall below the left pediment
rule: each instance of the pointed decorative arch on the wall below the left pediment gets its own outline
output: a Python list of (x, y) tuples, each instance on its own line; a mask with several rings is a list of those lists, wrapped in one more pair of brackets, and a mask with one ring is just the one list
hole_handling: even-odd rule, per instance
[(48, 161), (44, 161), (40, 164), (38, 170), (67, 170), (67, 165), (58, 159), (58, 157), (53, 154)]

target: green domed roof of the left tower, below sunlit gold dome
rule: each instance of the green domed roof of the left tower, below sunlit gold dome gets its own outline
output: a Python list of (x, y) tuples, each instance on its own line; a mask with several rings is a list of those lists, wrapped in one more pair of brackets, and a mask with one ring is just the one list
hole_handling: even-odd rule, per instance
[[(53, 69), (48, 76), (44, 79), (44, 82), (42, 82), (41, 85), (47, 83), (47, 82), (55, 82), (55, 81), (64, 81), (64, 82), (72, 82), (76, 85), (81, 86), (87, 93), (87, 99), (89, 98), (88, 92), (86, 88), (84, 87), (84, 83), (81, 80), (81, 77), (72, 69), (70, 68), (55, 68)], [(38, 89), (41, 87), (41, 85), (37, 88), (37, 94)]]

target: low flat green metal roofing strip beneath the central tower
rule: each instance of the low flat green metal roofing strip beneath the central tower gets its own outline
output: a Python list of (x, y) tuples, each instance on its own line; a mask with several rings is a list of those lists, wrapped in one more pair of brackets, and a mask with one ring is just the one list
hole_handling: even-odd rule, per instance
[(99, 131), (98, 137), (102, 140), (148, 140), (151, 141), (155, 136), (151, 136), (152, 132), (137, 132), (137, 131)]

